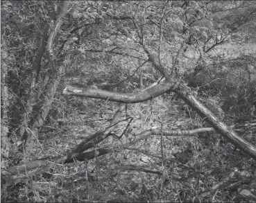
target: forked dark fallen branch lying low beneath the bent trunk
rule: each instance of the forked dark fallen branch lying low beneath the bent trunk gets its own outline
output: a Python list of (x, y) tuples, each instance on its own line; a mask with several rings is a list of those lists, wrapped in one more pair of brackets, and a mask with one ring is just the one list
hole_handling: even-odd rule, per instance
[[(115, 116), (112, 118), (111, 123), (114, 123), (114, 121), (117, 121), (117, 119), (121, 115), (121, 110), (123, 107), (124, 107), (123, 105), (121, 107), (119, 107)], [(128, 140), (128, 143), (118, 144), (118, 145), (113, 146), (110, 149), (99, 148), (97, 150), (93, 150), (92, 152), (82, 153), (83, 151), (85, 151), (85, 150), (89, 149), (91, 146), (93, 146), (93, 143), (90, 143), (89, 141), (99, 143), (100, 141), (103, 140), (104, 136), (108, 136), (110, 129), (112, 129), (112, 128), (108, 128), (108, 132), (100, 131), (100, 132), (96, 132), (95, 134), (92, 134), (91, 136), (87, 137), (80, 144), (76, 145), (76, 147), (73, 150), (71, 150), (71, 152), (69, 152), (64, 157), (45, 157), (45, 158), (37, 159), (34, 161), (28, 161), (26, 163), (26, 166), (24, 166), (24, 164), (22, 164), (20, 166), (8, 168), (8, 170), (3, 172), (3, 174), (15, 175), (17, 173), (23, 173), (25, 171), (25, 168), (26, 168), (26, 170), (32, 170), (32, 169), (40, 167), (40, 166), (49, 166), (49, 164), (53, 164), (54, 161), (57, 164), (61, 164), (61, 163), (72, 163), (72, 162), (74, 162), (75, 159), (78, 161), (94, 159), (95, 155), (97, 155), (99, 157), (102, 155), (106, 155), (110, 152), (114, 152), (115, 150), (117, 150), (119, 148), (127, 148), (128, 145), (134, 145), (138, 141), (148, 138), (148, 136), (157, 135), (157, 134), (160, 134), (160, 132), (161, 132), (160, 130), (157, 130), (157, 129), (146, 130), (142, 133), (137, 134), (135, 136), (135, 138)], [(172, 130), (172, 131), (170, 130), (168, 132), (163, 131), (162, 133), (164, 136), (177, 136), (177, 135), (197, 134), (198, 132), (210, 132), (212, 130), (213, 130), (212, 127), (205, 127), (205, 128), (194, 129), (194, 130)], [(99, 138), (94, 140), (98, 136), (99, 136)]]

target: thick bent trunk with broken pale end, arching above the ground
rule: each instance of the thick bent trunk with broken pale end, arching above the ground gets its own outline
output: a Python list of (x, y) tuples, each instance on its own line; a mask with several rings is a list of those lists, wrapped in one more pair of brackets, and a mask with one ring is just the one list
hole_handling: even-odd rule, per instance
[[(153, 59), (151, 59), (153, 60)], [(173, 80), (174, 81), (174, 80)], [(87, 88), (78, 88), (67, 86), (63, 90), (63, 94), (69, 96), (82, 96), (89, 98), (99, 98), (105, 100), (112, 100), (119, 103), (139, 103), (151, 98), (155, 98), (164, 94), (164, 92), (171, 90), (178, 94), (185, 103), (187, 103), (192, 109), (194, 109), (201, 118), (204, 118), (208, 123), (210, 123), (214, 129), (222, 134), (225, 139), (228, 139), (230, 143), (235, 145), (237, 148), (246, 152), (247, 155), (256, 159), (256, 147), (250, 142), (246, 141), (244, 138), (239, 136), (236, 132), (232, 130), (231, 127), (225, 125), (219, 121), (219, 119), (210, 112), (202, 103), (200, 103), (193, 94), (193, 91), (189, 89), (186, 85), (180, 84), (178, 81), (170, 82), (169, 80), (160, 82), (159, 84), (154, 85), (153, 87), (146, 88), (144, 91), (139, 91), (137, 93), (123, 94), (112, 91), (104, 91), (101, 89), (87, 89)], [(150, 134), (151, 132), (144, 132)], [(141, 135), (142, 136), (142, 135)]]

